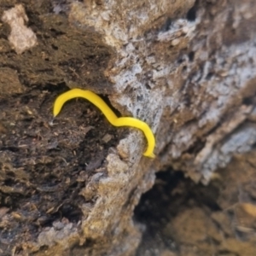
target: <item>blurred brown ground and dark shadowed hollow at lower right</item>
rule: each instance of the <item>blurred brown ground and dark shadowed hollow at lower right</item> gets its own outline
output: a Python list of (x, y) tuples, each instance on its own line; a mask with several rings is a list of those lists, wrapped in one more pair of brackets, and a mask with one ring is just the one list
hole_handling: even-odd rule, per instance
[[(208, 186), (159, 172), (137, 206), (137, 256), (256, 255), (256, 150), (218, 170)], [(171, 172), (170, 172), (171, 171)]]

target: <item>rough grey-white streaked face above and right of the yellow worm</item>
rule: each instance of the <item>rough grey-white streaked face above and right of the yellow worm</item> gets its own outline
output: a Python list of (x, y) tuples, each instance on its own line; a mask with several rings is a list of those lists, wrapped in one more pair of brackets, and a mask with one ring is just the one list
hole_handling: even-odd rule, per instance
[(69, 18), (116, 49), (105, 71), (116, 90), (111, 100), (151, 125), (156, 168), (172, 163), (207, 183), (255, 143), (246, 119), (256, 90), (256, 9), (253, 1), (173, 2), (73, 3)]

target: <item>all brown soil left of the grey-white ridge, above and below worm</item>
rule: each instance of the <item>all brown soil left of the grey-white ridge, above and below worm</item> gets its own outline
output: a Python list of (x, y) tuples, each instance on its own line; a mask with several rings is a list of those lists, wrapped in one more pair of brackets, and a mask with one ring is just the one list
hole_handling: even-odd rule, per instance
[[(70, 25), (61, 9), (49, 15), (50, 1), (39, 2), (20, 1), (38, 38), (33, 50), (17, 55), (0, 22), (1, 255), (18, 255), (59, 220), (79, 226), (79, 206), (95, 201), (79, 191), (99, 169), (108, 175), (105, 157), (127, 131), (82, 99), (53, 120), (56, 96), (73, 87), (93, 88), (108, 102), (113, 90), (103, 70), (113, 51), (96, 32)], [(1, 1), (0, 16), (14, 4)]]

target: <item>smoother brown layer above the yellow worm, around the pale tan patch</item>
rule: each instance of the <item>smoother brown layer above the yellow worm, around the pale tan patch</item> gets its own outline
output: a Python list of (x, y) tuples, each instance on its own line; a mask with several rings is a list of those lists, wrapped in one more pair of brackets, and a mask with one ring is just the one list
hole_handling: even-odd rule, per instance
[[(13, 8), (16, 1), (1, 1), (3, 11)], [(113, 55), (113, 49), (103, 44), (102, 38), (88, 27), (70, 24), (64, 12), (55, 14), (52, 1), (20, 1), (25, 7), (30, 27), (38, 42), (32, 49), (17, 55), (9, 44), (10, 26), (0, 26), (0, 72), (9, 70), (11, 78), (18, 78), (23, 90), (56, 90), (60, 84), (111, 94), (113, 87), (103, 71)], [(61, 8), (61, 6), (60, 6)], [(10, 79), (11, 79), (10, 78)], [(1, 81), (0, 89), (6, 94), (20, 92), (4, 90), (9, 81)], [(17, 84), (17, 82), (15, 83)], [(24, 87), (25, 86), (25, 87)], [(19, 88), (20, 89), (20, 88)]]

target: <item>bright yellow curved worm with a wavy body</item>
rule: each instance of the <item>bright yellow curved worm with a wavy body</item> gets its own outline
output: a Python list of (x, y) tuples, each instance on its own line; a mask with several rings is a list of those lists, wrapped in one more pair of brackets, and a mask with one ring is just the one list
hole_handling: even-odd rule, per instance
[(106, 118), (108, 119), (111, 125), (131, 126), (143, 131), (145, 137), (148, 140), (148, 148), (143, 155), (151, 158), (155, 157), (153, 153), (154, 145), (155, 145), (154, 134), (149, 128), (149, 126), (139, 119), (134, 119), (131, 117), (118, 118), (115, 115), (115, 113), (113, 113), (111, 108), (109, 108), (108, 105), (102, 100), (102, 98), (100, 96), (97, 96), (95, 93), (93, 93), (90, 90), (72, 89), (61, 94), (61, 96), (58, 96), (54, 104), (54, 109), (53, 109), (54, 116), (56, 116), (58, 113), (61, 112), (61, 108), (65, 102), (77, 97), (82, 97), (90, 101), (91, 103), (93, 103), (97, 108), (100, 108), (102, 110), (102, 113), (104, 113), (104, 115), (106, 116)]

